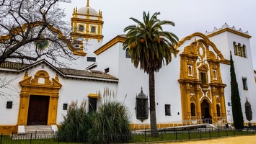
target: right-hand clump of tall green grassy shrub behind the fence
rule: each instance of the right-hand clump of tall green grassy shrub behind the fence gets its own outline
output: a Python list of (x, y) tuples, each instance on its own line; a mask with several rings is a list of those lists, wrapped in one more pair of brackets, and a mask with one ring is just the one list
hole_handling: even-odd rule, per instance
[(131, 133), (130, 121), (124, 104), (106, 102), (94, 115), (89, 140), (92, 143), (127, 142)]

